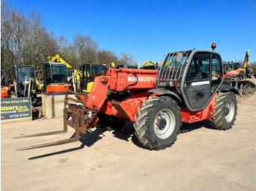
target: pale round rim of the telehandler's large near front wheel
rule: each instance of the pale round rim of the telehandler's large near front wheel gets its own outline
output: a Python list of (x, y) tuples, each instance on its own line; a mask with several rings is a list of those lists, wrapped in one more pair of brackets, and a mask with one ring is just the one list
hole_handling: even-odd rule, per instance
[(161, 110), (154, 119), (154, 133), (159, 139), (167, 139), (173, 133), (175, 125), (173, 112), (167, 109)]

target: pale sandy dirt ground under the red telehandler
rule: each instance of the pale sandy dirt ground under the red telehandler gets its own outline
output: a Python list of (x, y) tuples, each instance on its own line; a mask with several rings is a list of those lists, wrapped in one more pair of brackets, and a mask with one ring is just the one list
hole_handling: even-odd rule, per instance
[(83, 142), (15, 151), (67, 139), (68, 133), (12, 139), (60, 130), (62, 117), (1, 121), (1, 190), (255, 190), (256, 94), (238, 100), (231, 130), (209, 121), (183, 125), (172, 147), (140, 147), (132, 124), (122, 130), (95, 128)]

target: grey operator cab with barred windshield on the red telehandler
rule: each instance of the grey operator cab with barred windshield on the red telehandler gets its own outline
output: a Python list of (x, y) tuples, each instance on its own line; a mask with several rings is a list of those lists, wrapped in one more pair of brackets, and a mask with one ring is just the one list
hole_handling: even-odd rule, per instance
[(212, 50), (170, 52), (159, 69), (157, 87), (176, 93), (192, 112), (204, 109), (222, 84), (221, 56)]

